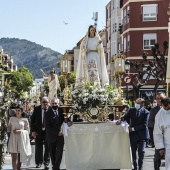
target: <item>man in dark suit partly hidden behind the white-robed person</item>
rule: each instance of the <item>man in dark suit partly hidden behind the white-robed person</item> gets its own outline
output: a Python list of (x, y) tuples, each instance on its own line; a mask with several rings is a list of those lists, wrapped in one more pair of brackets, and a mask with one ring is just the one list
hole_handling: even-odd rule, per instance
[[(157, 115), (157, 113), (159, 112), (162, 103), (161, 100), (163, 98), (165, 98), (165, 93), (164, 92), (158, 92), (156, 95), (156, 102), (157, 102), (157, 106), (152, 108), (150, 110), (150, 116), (149, 116), (149, 121), (148, 121), (148, 128), (149, 128), (149, 134), (150, 134), (150, 138), (151, 138), (151, 144), (152, 147), (154, 147), (154, 142), (153, 142), (153, 129), (154, 129), (154, 124), (155, 124), (155, 116)], [(161, 155), (159, 154), (159, 150), (155, 149), (155, 155), (154, 155), (154, 169), (155, 170), (159, 170), (160, 166), (161, 166)]]

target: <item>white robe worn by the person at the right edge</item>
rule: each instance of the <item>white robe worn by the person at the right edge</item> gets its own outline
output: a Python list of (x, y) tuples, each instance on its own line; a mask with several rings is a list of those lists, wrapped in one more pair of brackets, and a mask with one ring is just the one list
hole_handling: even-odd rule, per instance
[(165, 148), (165, 168), (170, 170), (170, 113), (163, 108), (155, 117), (153, 136), (155, 148)]

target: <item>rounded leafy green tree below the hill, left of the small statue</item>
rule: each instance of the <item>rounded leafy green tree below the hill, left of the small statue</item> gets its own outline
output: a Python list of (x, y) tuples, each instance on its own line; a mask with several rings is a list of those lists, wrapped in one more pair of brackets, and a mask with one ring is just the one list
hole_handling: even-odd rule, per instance
[(24, 92), (30, 91), (33, 86), (33, 76), (28, 68), (22, 66), (18, 71), (10, 74), (11, 92), (15, 98), (21, 98)]

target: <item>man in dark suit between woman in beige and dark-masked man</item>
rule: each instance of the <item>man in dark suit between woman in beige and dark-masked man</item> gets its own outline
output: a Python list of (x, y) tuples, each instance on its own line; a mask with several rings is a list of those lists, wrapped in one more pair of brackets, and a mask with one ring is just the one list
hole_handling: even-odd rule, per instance
[[(48, 143), (45, 140), (46, 128), (45, 128), (45, 113), (50, 107), (48, 106), (48, 98), (43, 97), (41, 105), (35, 107), (34, 112), (31, 116), (31, 131), (32, 136), (35, 139), (35, 163), (36, 168), (40, 168), (44, 164), (45, 169), (49, 169), (48, 165), (50, 162), (50, 154), (48, 150)], [(43, 144), (44, 144), (44, 155), (43, 155)]]

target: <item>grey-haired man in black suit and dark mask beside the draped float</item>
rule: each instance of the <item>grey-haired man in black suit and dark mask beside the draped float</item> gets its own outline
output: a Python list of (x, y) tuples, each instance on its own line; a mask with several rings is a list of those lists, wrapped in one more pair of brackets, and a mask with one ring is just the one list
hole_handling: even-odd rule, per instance
[(45, 114), (46, 139), (49, 144), (49, 151), (53, 170), (59, 170), (63, 155), (64, 136), (61, 126), (64, 121), (62, 108), (59, 108), (59, 99), (51, 100), (51, 108)]

